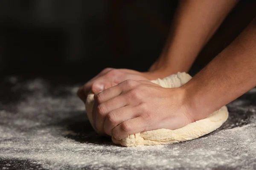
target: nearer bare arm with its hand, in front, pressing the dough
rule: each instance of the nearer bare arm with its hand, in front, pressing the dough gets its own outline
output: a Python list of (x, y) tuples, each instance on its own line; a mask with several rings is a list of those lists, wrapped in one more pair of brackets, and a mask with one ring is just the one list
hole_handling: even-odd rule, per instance
[(97, 130), (116, 140), (129, 134), (177, 129), (236, 99), (256, 85), (256, 20), (180, 88), (127, 80), (94, 96)]

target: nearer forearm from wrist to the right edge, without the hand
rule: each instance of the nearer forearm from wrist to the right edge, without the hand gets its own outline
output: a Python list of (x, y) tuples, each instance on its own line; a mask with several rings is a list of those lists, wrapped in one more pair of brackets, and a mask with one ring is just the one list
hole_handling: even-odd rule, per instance
[(195, 119), (203, 119), (256, 86), (256, 19), (182, 88)]

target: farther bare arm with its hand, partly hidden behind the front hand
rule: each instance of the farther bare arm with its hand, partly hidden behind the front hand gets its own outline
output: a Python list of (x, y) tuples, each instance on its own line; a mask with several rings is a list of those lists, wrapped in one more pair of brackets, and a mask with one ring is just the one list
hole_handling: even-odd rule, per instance
[(152, 80), (178, 71), (189, 71), (192, 63), (238, 0), (181, 0), (166, 47), (148, 72), (106, 68), (78, 91), (85, 101), (88, 92), (105, 90), (127, 79)]

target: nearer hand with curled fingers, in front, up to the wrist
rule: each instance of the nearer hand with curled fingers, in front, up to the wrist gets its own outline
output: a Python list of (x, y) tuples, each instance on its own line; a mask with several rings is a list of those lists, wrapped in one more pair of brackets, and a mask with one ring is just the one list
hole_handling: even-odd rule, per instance
[(194, 122), (185, 92), (183, 88), (126, 80), (94, 95), (94, 127), (116, 140), (148, 130), (183, 127)]

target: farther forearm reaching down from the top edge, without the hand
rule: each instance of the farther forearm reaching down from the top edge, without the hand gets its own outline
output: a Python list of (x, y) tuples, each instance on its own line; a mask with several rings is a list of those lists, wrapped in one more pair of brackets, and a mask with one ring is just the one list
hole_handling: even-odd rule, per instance
[(198, 53), (212, 37), (237, 0), (182, 0), (160, 58), (150, 71), (162, 77), (188, 72)]

